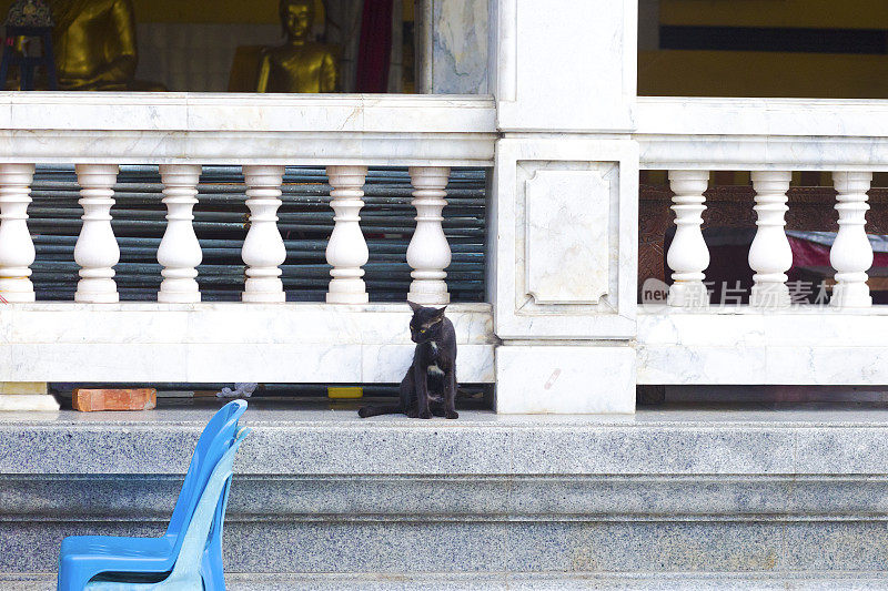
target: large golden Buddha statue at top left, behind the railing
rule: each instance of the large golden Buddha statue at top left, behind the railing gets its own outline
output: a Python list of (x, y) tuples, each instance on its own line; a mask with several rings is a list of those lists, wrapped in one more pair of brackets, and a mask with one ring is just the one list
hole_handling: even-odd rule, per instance
[(135, 80), (131, 0), (50, 0), (53, 44), (63, 90), (165, 90)]

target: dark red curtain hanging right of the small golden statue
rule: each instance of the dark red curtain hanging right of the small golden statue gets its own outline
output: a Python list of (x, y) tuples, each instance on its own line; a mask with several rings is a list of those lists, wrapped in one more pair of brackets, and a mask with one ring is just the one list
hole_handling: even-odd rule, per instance
[(355, 92), (386, 92), (392, 55), (392, 0), (364, 0)]

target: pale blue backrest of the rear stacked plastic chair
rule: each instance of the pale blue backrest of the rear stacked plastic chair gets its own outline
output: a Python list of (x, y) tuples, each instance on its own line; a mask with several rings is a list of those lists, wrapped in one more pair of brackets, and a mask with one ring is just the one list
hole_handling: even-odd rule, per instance
[[(242, 428), (238, 431), (234, 441), (229, 447), (228, 451), (220, 458), (210, 479), (206, 481), (206, 487), (200, 495), (198, 506), (194, 508), (194, 513), (191, 521), (185, 528), (182, 538), (182, 543), (175, 556), (175, 565), (168, 579), (168, 582), (186, 581), (200, 578), (201, 560), (203, 559), (203, 550), (206, 547), (210, 530), (215, 520), (219, 520), (216, 527), (222, 527), (224, 520), (224, 505), (226, 487), (231, 482), (233, 472), (232, 466), (234, 463), (234, 455), (241, 442), (250, 434), (250, 429)], [(221, 507), (222, 517), (215, 517)]]

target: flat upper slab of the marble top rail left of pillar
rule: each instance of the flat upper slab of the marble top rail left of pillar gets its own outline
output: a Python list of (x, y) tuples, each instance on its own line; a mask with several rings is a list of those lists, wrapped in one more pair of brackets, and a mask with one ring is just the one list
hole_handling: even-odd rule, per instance
[(483, 95), (0, 92), (3, 130), (492, 133)]

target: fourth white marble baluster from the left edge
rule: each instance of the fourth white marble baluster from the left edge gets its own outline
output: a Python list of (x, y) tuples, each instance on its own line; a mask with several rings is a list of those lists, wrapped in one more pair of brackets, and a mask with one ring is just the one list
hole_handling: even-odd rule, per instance
[(284, 167), (250, 165), (243, 167), (243, 175), (248, 186), (250, 231), (241, 251), (248, 265), (242, 298), (244, 302), (285, 302), (279, 267), (286, 261), (286, 248), (278, 230)]

